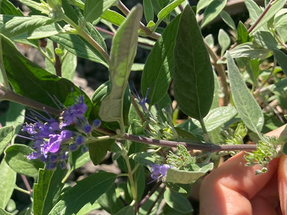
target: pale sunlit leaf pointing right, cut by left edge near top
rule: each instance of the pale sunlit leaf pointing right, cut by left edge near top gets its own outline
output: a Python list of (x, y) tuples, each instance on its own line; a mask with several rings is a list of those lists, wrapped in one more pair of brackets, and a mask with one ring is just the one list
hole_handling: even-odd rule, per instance
[(10, 38), (25, 32), (30, 35), (34, 29), (54, 22), (55, 19), (43, 16), (15, 17), (0, 15), (1, 33)]

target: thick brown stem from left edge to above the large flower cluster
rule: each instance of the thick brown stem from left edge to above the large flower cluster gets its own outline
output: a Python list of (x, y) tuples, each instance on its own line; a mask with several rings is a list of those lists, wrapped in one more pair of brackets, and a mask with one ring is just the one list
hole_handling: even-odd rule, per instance
[(36, 110), (43, 111), (43, 109), (45, 109), (48, 113), (55, 116), (59, 116), (61, 114), (61, 110), (44, 105), (27, 97), (21, 96), (19, 94), (12, 92), (11, 90), (6, 91), (5, 89), (3, 89), (3, 87), (1, 88), (1, 86), (0, 86), (0, 98), (3, 100), (13, 101), (15, 103), (25, 105), (27, 107), (32, 107)]

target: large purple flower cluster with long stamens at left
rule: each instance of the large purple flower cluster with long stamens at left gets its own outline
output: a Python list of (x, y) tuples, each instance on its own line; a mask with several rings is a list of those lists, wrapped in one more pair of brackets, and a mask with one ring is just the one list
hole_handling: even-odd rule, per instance
[[(99, 127), (101, 121), (96, 119), (89, 125), (84, 116), (88, 107), (83, 101), (83, 95), (75, 99), (75, 104), (64, 108), (59, 122), (48, 115), (43, 116), (34, 112), (34, 123), (26, 123), (22, 131), (28, 132), (34, 141), (34, 152), (29, 154), (28, 159), (39, 158), (46, 164), (48, 170), (55, 170), (59, 163), (61, 168), (66, 168), (70, 152), (77, 150), (92, 132), (92, 127)], [(86, 150), (83, 145), (82, 150)]]

